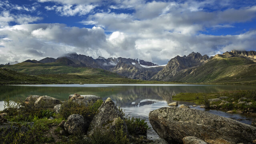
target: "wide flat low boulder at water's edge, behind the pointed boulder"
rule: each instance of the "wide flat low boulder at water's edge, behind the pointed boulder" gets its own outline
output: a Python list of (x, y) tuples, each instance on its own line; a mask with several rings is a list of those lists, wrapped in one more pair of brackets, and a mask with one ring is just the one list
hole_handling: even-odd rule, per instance
[(95, 103), (97, 100), (101, 100), (101, 97), (95, 95), (71, 94), (69, 95), (69, 100), (77, 102), (78, 104), (85, 104), (85, 106), (88, 106), (89, 103)]

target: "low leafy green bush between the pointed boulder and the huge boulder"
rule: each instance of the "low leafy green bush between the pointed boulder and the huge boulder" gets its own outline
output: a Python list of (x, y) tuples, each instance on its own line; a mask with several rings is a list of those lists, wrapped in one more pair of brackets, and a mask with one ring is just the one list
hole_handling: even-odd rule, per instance
[(147, 136), (147, 130), (149, 126), (145, 120), (141, 120), (140, 118), (126, 118), (125, 119), (128, 132), (131, 135), (144, 135)]

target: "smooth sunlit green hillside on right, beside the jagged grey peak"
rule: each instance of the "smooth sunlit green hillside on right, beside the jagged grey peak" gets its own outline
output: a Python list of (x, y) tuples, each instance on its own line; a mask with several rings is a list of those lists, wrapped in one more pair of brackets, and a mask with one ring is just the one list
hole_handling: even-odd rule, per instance
[(204, 83), (256, 83), (256, 63), (245, 58), (214, 58), (176, 74), (172, 80)]

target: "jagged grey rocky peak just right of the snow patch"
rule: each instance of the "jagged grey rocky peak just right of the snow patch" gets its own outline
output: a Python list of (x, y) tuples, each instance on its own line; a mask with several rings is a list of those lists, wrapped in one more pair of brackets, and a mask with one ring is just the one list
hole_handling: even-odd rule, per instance
[(209, 57), (207, 55), (202, 56), (198, 52), (192, 52), (188, 56), (183, 57), (176, 56), (175, 58), (172, 58), (161, 71), (153, 76), (151, 80), (171, 80), (171, 78), (175, 76), (175, 74), (177, 74), (179, 71), (195, 66), (200, 66), (208, 59)]

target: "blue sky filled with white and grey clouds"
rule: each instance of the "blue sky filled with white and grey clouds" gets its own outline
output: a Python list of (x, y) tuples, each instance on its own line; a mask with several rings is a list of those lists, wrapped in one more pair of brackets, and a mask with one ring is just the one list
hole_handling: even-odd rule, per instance
[(256, 50), (255, 0), (0, 0), (0, 64)]

